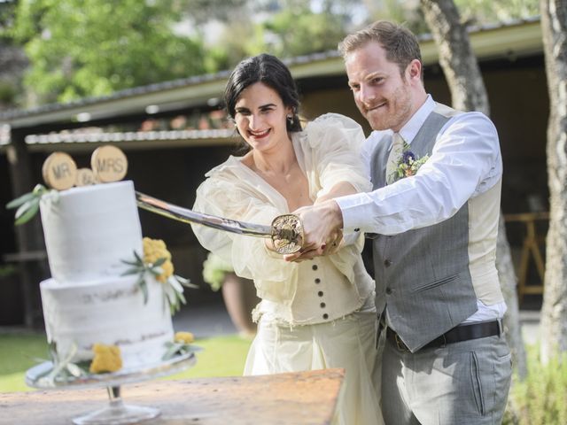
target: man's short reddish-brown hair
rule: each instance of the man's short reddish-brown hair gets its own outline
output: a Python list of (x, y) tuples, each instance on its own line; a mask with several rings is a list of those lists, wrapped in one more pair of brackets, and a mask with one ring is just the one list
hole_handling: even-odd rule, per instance
[(388, 20), (377, 20), (368, 27), (346, 35), (345, 39), (338, 43), (338, 51), (346, 59), (353, 51), (361, 49), (369, 42), (379, 43), (386, 51), (386, 58), (398, 64), (402, 74), (412, 60), (422, 62), (416, 35), (408, 28)]

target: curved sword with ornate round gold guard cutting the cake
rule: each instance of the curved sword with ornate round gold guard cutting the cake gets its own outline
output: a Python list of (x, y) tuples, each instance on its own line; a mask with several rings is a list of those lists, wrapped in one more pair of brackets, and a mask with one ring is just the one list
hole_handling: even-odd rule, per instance
[(269, 237), (274, 243), (276, 251), (280, 254), (291, 254), (301, 249), (303, 245), (303, 225), (299, 217), (294, 214), (278, 215), (271, 226), (245, 223), (243, 221), (229, 220), (216, 215), (197, 213), (182, 206), (169, 204), (156, 197), (144, 195), (136, 191), (138, 207), (163, 215), (169, 219), (196, 223), (209, 228), (216, 228), (238, 235)]

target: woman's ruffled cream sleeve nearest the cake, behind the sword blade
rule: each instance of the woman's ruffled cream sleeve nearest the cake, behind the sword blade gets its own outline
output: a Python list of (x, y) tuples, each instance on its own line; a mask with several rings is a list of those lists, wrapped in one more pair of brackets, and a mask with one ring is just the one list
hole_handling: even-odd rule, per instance
[[(264, 187), (267, 184), (260, 177), (243, 169), (245, 166), (237, 164), (235, 158), (231, 163), (207, 174), (208, 178), (197, 189), (195, 211), (263, 225), (285, 213), (286, 205)], [(282, 256), (268, 251), (263, 238), (201, 225), (191, 227), (207, 250), (229, 261), (237, 275), (254, 281), (260, 298), (291, 302), (297, 285), (297, 264), (287, 263)]]

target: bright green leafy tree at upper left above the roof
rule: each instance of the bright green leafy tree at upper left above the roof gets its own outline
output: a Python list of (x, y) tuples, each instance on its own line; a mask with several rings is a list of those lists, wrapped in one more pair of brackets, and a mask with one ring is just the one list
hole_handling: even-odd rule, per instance
[(200, 40), (174, 34), (175, 4), (20, 1), (12, 35), (31, 61), (27, 88), (42, 102), (67, 102), (203, 73)]

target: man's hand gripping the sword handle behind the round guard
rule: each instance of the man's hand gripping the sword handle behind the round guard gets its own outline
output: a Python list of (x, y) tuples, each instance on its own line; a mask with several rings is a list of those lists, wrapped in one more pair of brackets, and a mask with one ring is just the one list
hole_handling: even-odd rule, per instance
[(293, 213), (298, 215), (303, 223), (303, 247), (295, 254), (284, 256), (286, 261), (313, 259), (338, 250), (342, 239), (340, 229), (343, 226), (343, 214), (334, 200), (304, 206)]

